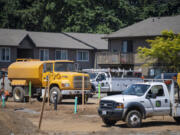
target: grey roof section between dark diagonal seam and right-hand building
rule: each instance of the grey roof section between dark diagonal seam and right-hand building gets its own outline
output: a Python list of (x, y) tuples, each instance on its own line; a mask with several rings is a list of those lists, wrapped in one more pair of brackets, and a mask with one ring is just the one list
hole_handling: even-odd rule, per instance
[(90, 34), (90, 33), (64, 33), (64, 34), (95, 49), (98, 50), (108, 49), (108, 41), (102, 39), (102, 37), (104, 37), (105, 34)]

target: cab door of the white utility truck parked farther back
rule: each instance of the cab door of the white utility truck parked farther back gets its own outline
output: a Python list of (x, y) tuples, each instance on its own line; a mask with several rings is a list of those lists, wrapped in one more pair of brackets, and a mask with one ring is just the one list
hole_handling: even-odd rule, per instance
[[(101, 85), (102, 92), (108, 92), (110, 90), (109, 80), (106, 73), (100, 73), (96, 78), (96, 81)], [(98, 89), (98, 87), (96, 89)]]

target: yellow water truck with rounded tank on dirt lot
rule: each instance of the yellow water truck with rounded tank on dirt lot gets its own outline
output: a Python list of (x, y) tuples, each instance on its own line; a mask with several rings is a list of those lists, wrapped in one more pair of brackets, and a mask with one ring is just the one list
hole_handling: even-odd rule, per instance
[[(57, 94), (58, 103), (63, 98), (78, 96), (82, 102), (82, 87), (85, 101), (91, 94), (88, 74), (76, 72), (73, 61), (17, 61), (8, 67), (8, 78), (11, 81), (14, 101), (28, 101), (29, 96), (42, 100), (44, 90), (49, 86), (50, 101), (54, 102), (53, 93)], [(82, 84), (84, 78), (84, 84)], [(29, 89), (31, 85), (31, 92)], [(30, 93), (30, 94), (29, 94)]]

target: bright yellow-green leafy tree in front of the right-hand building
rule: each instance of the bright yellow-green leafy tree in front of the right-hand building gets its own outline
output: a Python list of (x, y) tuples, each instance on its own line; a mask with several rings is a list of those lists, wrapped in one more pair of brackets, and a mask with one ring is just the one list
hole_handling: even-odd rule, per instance
[(162, 36), (147, 42), (150, 48), (138, 48), (138, 55), (146, 60), (146, 64), (158, 63), (164, 71), (180, 71), (180, 34), (165, 30)]

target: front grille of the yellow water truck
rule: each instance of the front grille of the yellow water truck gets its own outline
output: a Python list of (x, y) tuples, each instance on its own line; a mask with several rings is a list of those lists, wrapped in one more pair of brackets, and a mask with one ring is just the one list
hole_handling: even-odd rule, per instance
[[(82, 89), (82, 76), (75, 76), (74, 77), (74, 88)], [(84, 77), (84, 88), (87, 89), (90, 87), (90, 80), (89, 77)]]

